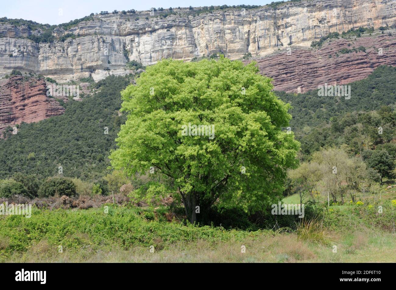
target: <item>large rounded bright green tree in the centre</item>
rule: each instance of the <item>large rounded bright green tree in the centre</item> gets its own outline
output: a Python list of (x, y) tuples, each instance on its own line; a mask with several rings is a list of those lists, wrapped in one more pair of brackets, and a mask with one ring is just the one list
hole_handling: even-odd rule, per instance
[[(214, 203), (263, 209), (281, 196), (286, 170), (297, 166), (299, 142), (282, 130), (291, 119), (289, 104), (258, 72), (254, 63), (223, 57), (150, 66), (122, 92), (128, 119), (110, 154), (112, 166), (128, 175), (150, 168), (166, 175), (168, 188), (148, 194), (179, 194), (190, 222)], [(213, 132), (194, 136), (194, 125)], [(193, 127), (187, 136), (186, 126)]]

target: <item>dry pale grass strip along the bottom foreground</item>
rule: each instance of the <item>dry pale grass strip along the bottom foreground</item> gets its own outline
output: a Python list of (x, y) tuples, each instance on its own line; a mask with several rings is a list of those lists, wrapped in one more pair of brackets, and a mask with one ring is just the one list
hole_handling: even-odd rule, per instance
[[(243, 242), (209, 243), (198, 240), (155, 249), (154, 253), (146, 247), (122, 250), (115, 246), (112, 249), (94, 249), (90, 245), (82, 246), (78, 252), (64, 248), (63, 253), (58, 253), (57, 247), (49, 247), (41, 241), (27, 253), (13, 255), (10, 261), (5, 262), (395, 262), (396, 241), (392, 234), (368, 230), (345, 234), (341, 239), (335, 243), (337, 252), (333, 252), (333, 244), (303, 241), (296, 234), (263, 235)], [(241, 252), (242, 246), (246, 247), (246, 252)], [(350, 247), (354, 251), (347, 251)]]

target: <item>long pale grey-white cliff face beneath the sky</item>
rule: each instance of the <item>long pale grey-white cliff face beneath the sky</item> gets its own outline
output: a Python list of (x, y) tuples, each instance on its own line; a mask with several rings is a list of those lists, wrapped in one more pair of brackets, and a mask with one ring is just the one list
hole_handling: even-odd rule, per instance
[(160, 18), (158, 11), (156, 16), (149, 11), (95, 15), (93, 21), (54, 32), (56, 36), (72, 32), (76, 39), (40, 44), (16, 38), (36, 33), (27, 27), (0, 24), (4, 36), (0, 38), (0, 77), (18, 69), (57, 80), (92, 74), (97, 81), (127, 73), (123, 70), (126, 56), (143, 65), (218, 52), (231, 59), (245, 53), (263, 56), (289, 43), (309, 46), (329, 32), (396, 24), (396, 0), (314, 0), (277, 9), (217, 10), (196, 17), (194, 10), (174, 12), (190, 15)]

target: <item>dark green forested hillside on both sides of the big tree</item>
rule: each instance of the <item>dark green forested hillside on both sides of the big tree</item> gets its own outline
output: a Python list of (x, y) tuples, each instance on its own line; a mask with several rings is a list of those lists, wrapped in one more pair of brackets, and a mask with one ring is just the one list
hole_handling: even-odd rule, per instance
[[(37, 173), (45, 178), (56, 175), (59, 166), (65, 177), (94, 181), (105, 175), (109, 151), (114, 149), (114, 139), (124, 122), (117, 113), (120, 91), (128, 84), (128, 77), (110, 76), (97, 83), (98, 92), (93, 96), (65, 104), (65, 114), (21, 124), (16, 135), (9, 131), (6, 139), (0, 140), (0, 178), (16, 172)], [(396, 68), (381, 66), (367, 79), (350, 85), (349, 100), (318, 96), (316, 90), (305, 94), (276, 92), (293, 106), (290, 126), (301, 142), (303, 160), (325, 145), (346, 143), (356, 154), (361, 153), (364, 144), (359, 143), (359, 138), (369, 136), (373, 145), (394, 138)], [(370, 111), (377, 113), (364, 113)], [(383, 134), (379, 135), (381, 125)], [(109, 134), (104, 134), (104, 127), (109, 128)]]

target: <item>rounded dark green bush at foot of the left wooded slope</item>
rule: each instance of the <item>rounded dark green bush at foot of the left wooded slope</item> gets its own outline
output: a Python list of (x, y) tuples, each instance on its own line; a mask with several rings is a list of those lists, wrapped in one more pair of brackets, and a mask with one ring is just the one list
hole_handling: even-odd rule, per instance
[(76, 194), (76, 185), (65, 177), (49, 177), (38, 190), (40, 197), (74, 196)]

